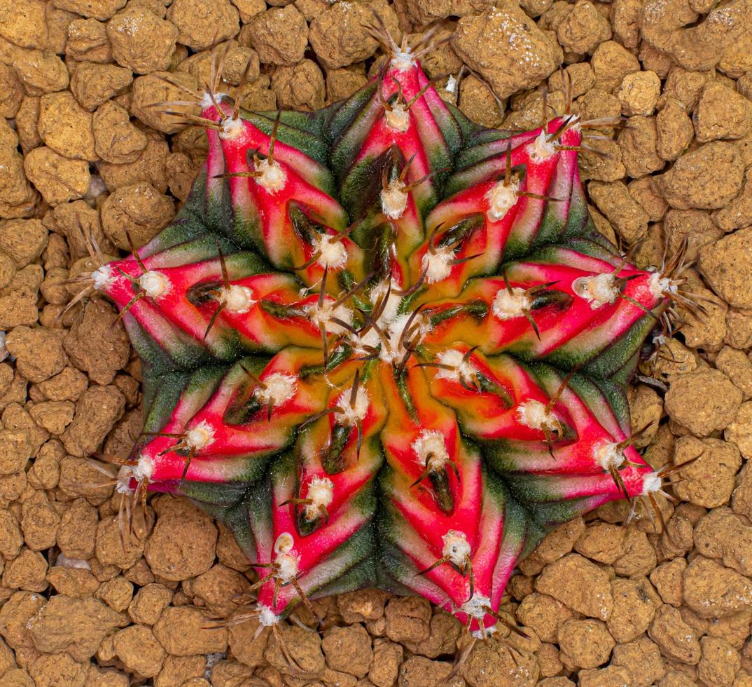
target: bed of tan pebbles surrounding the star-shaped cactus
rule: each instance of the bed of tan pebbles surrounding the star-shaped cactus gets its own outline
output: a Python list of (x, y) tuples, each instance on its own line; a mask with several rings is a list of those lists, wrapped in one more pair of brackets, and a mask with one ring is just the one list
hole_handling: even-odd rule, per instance
[[(165, 5), (168, 5), (165, 7)], [(687, 463), (663, 521), (601, 508), (550, 534), (509, 585), (529, 638), (478, 643), (425, 600), (360, 591), (318, 603), (322, 634), (284, 630), (302, 677), (236, 612), (250, 572), (189, 502), (150, 499), (123, 546), (120, 495), (83, 456), (141, 431), (138, 360), (103, 300), (65, 311), (91, 268), (174, 216), (205, 136), (150, 105), (159, 77), (198, 88), (230, 43), (247, 108), (320, 108), (374, 72), (371, 8), (397, 38), (433, 23), (424, 66), (494, 127), (564, 106), (623, 115), (581, 164), (599, 230), (641, 266), (689, 240), (690, 289), (631, 402), (653, 466)], [(463, 64), (465, 69), (462, 69)], [(0, 0), (0, 682), (175, 685), (752, 685), (752, 2), (730, 0)], [(301, 614), (306, 621), (305, 614)], [(450, 676), (447, 681), (447, 676)]]

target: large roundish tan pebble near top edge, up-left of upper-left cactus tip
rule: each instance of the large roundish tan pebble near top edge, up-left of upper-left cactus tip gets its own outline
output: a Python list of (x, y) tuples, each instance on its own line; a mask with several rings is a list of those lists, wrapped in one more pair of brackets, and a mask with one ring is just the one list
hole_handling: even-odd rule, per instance
[(170, 65), (177, 26), (144, 8), (126, 8), (107, 24), (112, 54), (120, 66), (148, 74)]

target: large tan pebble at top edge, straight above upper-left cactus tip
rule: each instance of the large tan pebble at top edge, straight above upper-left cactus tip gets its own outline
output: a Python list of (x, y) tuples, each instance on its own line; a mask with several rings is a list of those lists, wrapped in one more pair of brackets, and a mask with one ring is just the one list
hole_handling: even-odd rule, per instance
[(238, 10), (229, 0), (207, 4), (201, 0), (175, 0), (167, 20), (177, 26), (177, 40), (192, 50), (205, 50), (240, 31)]

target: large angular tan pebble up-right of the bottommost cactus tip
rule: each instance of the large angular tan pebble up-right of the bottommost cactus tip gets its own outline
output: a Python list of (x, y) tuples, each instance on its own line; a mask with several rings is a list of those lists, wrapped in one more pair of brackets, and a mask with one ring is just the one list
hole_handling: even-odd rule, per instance
[(614, 607), (608, 573), (578, 554), (550, 563), (538, 577), (535, 590), (591, 618), (605, 620)]

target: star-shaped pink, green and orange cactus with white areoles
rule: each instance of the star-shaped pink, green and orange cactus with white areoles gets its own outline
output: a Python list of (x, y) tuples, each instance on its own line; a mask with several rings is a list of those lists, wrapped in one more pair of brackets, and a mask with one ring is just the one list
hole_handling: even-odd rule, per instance
[(311, 114), (191, 95), (190, 198), (92, 273), (144, 363), (121, 492), (228, 524), (262, 627), (378, 585), (490, 631), (547, 529), (660, 490), (625, 388), (675, 262), (638, 270), (596, 231), (587, 123), (479, 127), (404, 46)]

